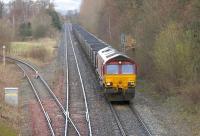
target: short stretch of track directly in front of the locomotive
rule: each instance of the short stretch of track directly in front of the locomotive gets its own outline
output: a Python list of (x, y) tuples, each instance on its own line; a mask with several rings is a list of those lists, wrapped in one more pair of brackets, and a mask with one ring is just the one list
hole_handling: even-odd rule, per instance
[(129, 104), (112, 104), (109, 106), (122, 136), (152, 136), (137, 110)]

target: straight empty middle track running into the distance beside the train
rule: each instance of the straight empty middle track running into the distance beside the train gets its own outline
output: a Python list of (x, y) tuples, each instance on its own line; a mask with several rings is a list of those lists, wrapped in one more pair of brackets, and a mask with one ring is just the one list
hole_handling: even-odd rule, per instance
[[(92, 136), (87, 97), (69, 25), (65, 24), (64, 29), (64, 40), (66, 43), (66, 112), (76, 124), (74, 127), (78, 135)], [(67, 121), (65, 128), (65, 136), (74, 135), (72, 131), (68, 131)]]

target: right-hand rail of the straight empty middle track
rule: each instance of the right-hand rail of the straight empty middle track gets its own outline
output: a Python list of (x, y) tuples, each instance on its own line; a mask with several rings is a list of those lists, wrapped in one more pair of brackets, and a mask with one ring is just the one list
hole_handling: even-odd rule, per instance
[(85, 87), (84, 87), (84, 84), (83, 84), (83, 79), (82, 79), (82, 75), (81, 75), (81, 72), (80, 72), (79, 63), (78, 63), (76, 53), (75, 53), (75, 50), (74, 50), (74, 44), (73, 44), (73, 41), (72, 41), (70, 28), (69, 28), (69, 26), (67, 28), (68, 28), (69, 39), (71, 41), (72, 50), (73, 50), (74, 58), (75, 58), (75, 61), (76, 61), (76, 67), (77, 67), (77, 70), (78, 70), (79, 79), (80, 79), (80, 82), (81, 82), (81, 88), (82, 88), (82, 92), (83, 92), (83, 96), (84, 96), (84, 103), (85, 103), (85, 108), (86, 108), (85, 114), (86, 114), (86, 121), (88, 122), (89, 135), (92, 136), (92, 127), (91, 127), (91, 122), (90, 122), (90, 115), (89, 115), (89, 110), (88, 110), (88, 102), (87, 102), (87, 97), (86, 97), (86, 93), (85, 93)]

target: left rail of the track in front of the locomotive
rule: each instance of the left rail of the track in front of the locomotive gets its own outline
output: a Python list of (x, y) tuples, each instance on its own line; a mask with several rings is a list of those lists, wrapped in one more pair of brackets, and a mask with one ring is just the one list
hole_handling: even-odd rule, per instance
[(121, 122), (120, 122), (120, 119), (119, 119), (119, 116), (118, 116), (117, 112), (116, 112), (115, 109), (113, 108), (112, 104), (111, 104), (110, 102), (108, 102), (108, 103), (109, 103), (111, 112), (113, 113), (113, 115), (114, 115), (114, 117), (115, 117), (115, 120), (116, 120), (116, 122), (117, 122), (117, 126), (118, 126), (118, 128), (119, 128), (119, 130), (120, 130), (122, 136), (127, 136), (127, 134), (126, 134), (126, 132), (125, 132), (125, 130), (124, 130), (124, 128), (123, 128)]

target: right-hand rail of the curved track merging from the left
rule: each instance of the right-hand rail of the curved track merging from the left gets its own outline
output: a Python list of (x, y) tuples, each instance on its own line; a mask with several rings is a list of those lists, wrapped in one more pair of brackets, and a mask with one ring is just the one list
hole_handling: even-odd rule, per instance
[[(33, 71), (38, 72), (36, 70), (36, 68), (34, 68), (31, 64), (24, 62), (23, 60), (19, 60), (19, 59), (15, 59), (12, 57), (6, 57), (8, 59), (14, 60), (16, 62), (20, 62), (22, 64), (27, 65), (29, 68), (31, 68)], [(40, 78), (40, 80), (43, 82), (43, 84), (46, 86), (46, 88), (49, 90), (50, 94), (52, 95), (52, 97), (54, 98), (54, 100), (56, 101), (56, 103), (58, 104), (58, 106), (60, 107), (62, 113), (64, 114), (65, 118), (68, 118), (70, 123), (72, 124), (72, 126), (74, 127), (75, 131), (77, 132), (77, 134), (80, 136), (80, 133), (77, 129), (77, 127), (75, 126), (75, 124), (73, 123), (72, 119), (68, 116), (68, 113), (65, 111), (63, 105), (60, 103), (60, 101), (58, 100), (57, 96), (53, 93), (53, 91), (51, 90), (51, 88), (49, 87), (49, 85), (47, 84), (47, 82), (44, 80), (44, 78), (38, 73), (38, 77)]]

